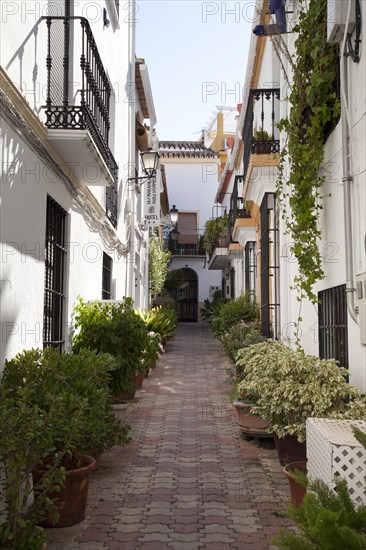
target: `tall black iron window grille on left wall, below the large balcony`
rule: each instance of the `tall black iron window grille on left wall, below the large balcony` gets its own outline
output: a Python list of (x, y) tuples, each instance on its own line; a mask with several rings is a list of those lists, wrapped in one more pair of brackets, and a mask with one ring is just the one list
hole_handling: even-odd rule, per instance
[(63, 324), (65, 310), (67, 212), (50, 196), (47, 197), (45, 288), (43, 311), (43, 346), (57, 348), (64, 344)]

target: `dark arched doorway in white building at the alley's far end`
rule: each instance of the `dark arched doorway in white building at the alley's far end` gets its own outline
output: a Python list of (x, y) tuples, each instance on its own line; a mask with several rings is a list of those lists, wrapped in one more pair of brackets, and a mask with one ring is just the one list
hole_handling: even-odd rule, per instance
[(189, 267), (179, 270), (181, 282), (176, 289), (178, 320), (182, 322), (198, 320), (198, 277)]

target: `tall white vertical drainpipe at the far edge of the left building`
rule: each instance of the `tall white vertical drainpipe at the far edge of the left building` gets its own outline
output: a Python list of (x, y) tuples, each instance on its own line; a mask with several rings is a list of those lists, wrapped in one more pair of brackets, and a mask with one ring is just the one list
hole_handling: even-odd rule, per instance
[[(129, 39), (128, 39), (128, 62), (129, 62), (129, 73), (128, 73), (128, 86), (129, 89), (134, 89), (135, 80), (136, 80), (136, 71), (135, 71), (135, 0), (131, 0), (128, 4), (129, 6)], [(136, 120), (135, 120), (135, 104), (133, 102), (134, 94), (130, 94), (130, 99), (128, 102), (128, 135), (129, 135), (129, 149), (128, 149), (128, 177), (135, 177), (135, 163), (136, 163), (136, 151), (135, 151), (135, 133), (136, 133)], [(131, 200), (131, 213), (130, 213), (130, 244), (133, 244), (135, 241), (135, 213), (136, 213), (136, 197), (135, 189), (133, 185), (128, 186), (128, 196)], [(130, 261), (127, 262), (127, 295), (131, 298), (135, 296), (135, 274), (134, 274), (134, 252), (133, 247), (131, 247), (130, 254), (133, 254), (133, 258), (130, 258)]]

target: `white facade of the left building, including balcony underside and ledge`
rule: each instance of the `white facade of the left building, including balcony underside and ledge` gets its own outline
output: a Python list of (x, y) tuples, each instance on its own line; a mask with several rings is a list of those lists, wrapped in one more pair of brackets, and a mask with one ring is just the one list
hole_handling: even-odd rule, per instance
[[(71, 15), (76, 18), (70, 34), (70, 102), (80, 101), (80, 18), (89, 22), (112, 88), (109, 149), (119, 167), (115, 227), (106, 216), (106, 187), (113, 177), (94, 138), (88, 131), (49, 131), (44, 125), (45, 17), (62, 16), (62, 6), (61, 0), (1, 3), (0, 370), (5, 358), (43, 345), (48, 196), (67, 213), (62, 348), (70, 345), (78, 296), (102, 298), (103, 253), (112, 258), (111, 299), (131, 296), (136, 306), (148, 305), (148, 232), (139, 228), (144, 207), (134, 183), (127, 181), (136, 176), (135, 169), (141, 171), (135, 143), (139, 101), (134, 85), (134, 2), (121, 1), (119, 16), (114, 0), (70, 2)], [(62, 56), (63, 46), (62, 33), (58, 41), (53, 36), (54, 63), (57, 55)], [(61, 81), (60, 75), (59, 81), (56, 76), (52, 81), (56, 95)], [(151, 90), (146, 89), (145, 95), (151, 108)], [(154, 125), (156, 118), (150, 122)], [(143, 193), (142, 189), (142, 197)]]

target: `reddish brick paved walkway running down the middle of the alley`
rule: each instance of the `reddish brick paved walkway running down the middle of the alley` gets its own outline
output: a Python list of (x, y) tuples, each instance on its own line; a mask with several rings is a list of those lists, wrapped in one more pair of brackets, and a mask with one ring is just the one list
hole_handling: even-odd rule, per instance
[(49, 530), (48, 550), (275, 548), (288, 482), (271, 440), (240, 435), (227, 364), (207, 328), (179, 327), (119, 411), (132, 442), (103, 455), (85, 521)]

